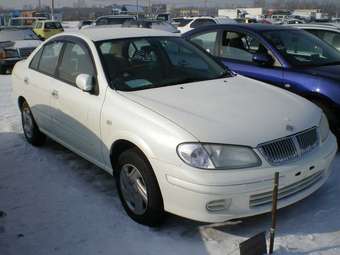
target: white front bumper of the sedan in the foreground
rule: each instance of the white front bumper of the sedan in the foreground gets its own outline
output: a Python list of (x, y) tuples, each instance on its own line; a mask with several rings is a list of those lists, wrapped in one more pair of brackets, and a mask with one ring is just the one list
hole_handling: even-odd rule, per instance
[[(223, 222), (269, 212), (268, 197), (275, 172), (280, 173), (278, 208), (309, 196), (326, 182), (336, 152), (336, 138), (331, 134), (303, 159), (282, 166), (264, 163), (253, 169), (209, 171), (185, 164), (174, 166), (156, 159), (150, 161), (166, 211), (202, 222)], [(259, 156), (266, 162), (260, 153)], [(220, 209), (211, 211), (212, 207), (208, 207), (208, 210), (208, 203)]]

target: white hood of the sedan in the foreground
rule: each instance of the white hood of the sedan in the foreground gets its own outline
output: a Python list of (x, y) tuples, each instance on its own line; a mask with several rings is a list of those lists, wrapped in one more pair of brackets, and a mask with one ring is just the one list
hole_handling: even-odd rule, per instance
[(317, 126), (321, 118), (321, 110), (309, 101), (240, 75), (119, 93), (201, 142), (256, 147)]

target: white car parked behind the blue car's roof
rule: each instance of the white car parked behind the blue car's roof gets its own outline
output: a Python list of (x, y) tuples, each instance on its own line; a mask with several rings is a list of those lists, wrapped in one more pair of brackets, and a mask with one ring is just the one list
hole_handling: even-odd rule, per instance
[(185, 33), (198, 27), (216, 24), (235, 24), (235, 20), (228, 17), (184, 17), (174, 18), (173, 25), (177, 26), (181, 33)]

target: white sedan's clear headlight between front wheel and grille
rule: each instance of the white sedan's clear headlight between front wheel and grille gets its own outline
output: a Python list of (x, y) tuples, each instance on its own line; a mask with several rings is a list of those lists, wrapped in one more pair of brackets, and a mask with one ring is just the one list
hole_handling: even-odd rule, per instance
[(188, 165), (202, 169), (238, 169), (261, 165), (255, 152), (245, 146), (183, 143), (179, 157)]

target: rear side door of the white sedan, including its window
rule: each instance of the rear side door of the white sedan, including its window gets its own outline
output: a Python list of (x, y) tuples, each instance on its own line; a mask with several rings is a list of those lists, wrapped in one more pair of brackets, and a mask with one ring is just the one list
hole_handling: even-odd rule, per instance
[(27, 101), (40, 129), (51, 130), (51, 98), (55, 71), (63, 43), (53, 41), (44, 45), (32, 58), (24, 75)]

